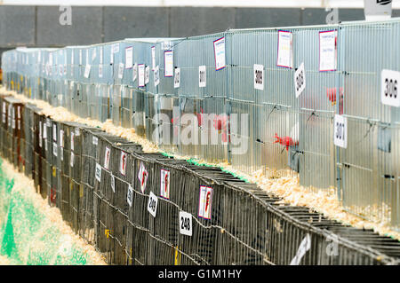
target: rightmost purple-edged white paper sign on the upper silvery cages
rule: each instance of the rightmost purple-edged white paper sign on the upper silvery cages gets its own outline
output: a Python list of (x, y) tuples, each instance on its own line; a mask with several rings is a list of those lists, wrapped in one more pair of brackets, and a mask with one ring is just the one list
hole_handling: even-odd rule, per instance
[(319, 71), (335, 71), (337, 62), (337, 31), (319, 32)]

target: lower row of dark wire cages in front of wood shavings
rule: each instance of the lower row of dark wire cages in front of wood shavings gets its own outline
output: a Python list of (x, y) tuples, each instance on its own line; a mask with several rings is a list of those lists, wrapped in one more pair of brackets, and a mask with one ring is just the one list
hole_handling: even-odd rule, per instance
[[(2, 121), (3, 157), (17, 161), (14, 164), (27, 176), (36, 176), (38, 193), (60, 208), (74, 231), (108, 263), (289, 264), (305, 239), (309, 250), (300, 257), (301, 264), (399, 263), (396, 240), (340, 225), (308, 208), (277, 204), (280, 199), (218, 168), (142, 153), (140, 145), (99, 129), (54, 122), (14, 98), (0, 98), (0, 104), (4, 102), (9, 106), (6, 112), (1, 107), (2, 117), (18, 107), (27, 117), (19, 120), (17, 110)], [(32, 116), (37, 117), (28, 119)], [(15, 129), (21, 122), (23, 135), (4, 134), (14, 118)], [(51, 143), (46, 151), (47, 139)], [(12, 147), (19, 140), (27, 148), (40, 148), (37, 157), (29, 151), (17, 158), (10, 155), (4, 145)], [(42, 167), (18, 167), (19, 161), (33, 164), (33, 159)], [(51, 174), (43, 174), (49, 166)], [(210, 219), (200, 217), (202, 187), (212, 190)], [(151, 193), (157, 200), (155, 216), (148, 211)], [(191, 215), (192, 236), (180, 233), (180, 211)], [(332, 244), (337, 256), (330, 254)]]

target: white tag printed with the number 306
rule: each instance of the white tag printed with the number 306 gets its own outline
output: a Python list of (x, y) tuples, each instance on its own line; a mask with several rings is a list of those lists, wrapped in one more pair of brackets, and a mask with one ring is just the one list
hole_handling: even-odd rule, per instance
[(387, 106), (400, 106), (398, 96), (398, 83), (400, 82), (400, 72), (382, 70), (380, 75), (380, 101)]

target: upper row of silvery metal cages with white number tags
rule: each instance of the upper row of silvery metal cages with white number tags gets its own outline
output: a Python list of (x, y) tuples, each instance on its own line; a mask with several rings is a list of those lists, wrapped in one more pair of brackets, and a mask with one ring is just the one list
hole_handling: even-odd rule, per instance
[(299, 177), (310, 190), (333, 190), (348, 211), (399, 229), (396, 86), (395, 103), (382, 98), (382, 70), (400, 71), (399, 24), (19, 48), (3, 53), (4, 83), (134, 128), (169, 153)]

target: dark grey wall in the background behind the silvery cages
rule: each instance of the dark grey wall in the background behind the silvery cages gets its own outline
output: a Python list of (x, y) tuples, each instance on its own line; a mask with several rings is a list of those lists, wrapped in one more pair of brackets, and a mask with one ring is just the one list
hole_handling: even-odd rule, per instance
[[(228, 28), (324, 24), (324, 9), (200, 7), (72, 7), (61, 26), (58, 6), (1, 6), (0, 52), (15, 46), (103, 43), (127, 37), (184, 37)], [(400, 16), (400, 10), (393, 11)], [(362, 9), (340, 9), (339, 20), (364, 20)]]

